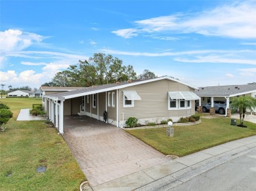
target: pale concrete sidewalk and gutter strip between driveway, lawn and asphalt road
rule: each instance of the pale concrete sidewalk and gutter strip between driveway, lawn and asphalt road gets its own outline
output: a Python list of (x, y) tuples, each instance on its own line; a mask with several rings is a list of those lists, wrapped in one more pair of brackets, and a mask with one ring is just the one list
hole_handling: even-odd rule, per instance
[[(141, 169), (114, 181), (93, 187), (93, 190), (159, 190), (168, 189), (213, 169), (218, 165), (250, 152), (256, 147), (256, 136), (208, 148), (159, 165)], [(163, 189), (165, 190), (165, 189)]]

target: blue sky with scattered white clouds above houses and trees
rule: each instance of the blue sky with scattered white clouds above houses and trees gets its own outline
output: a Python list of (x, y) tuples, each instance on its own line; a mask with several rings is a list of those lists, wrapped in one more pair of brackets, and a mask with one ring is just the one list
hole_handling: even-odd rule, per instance
[(256, 82), (256, 1), (3, 1), (0, 83), (39, 88), (94, 53), (195, 86)]

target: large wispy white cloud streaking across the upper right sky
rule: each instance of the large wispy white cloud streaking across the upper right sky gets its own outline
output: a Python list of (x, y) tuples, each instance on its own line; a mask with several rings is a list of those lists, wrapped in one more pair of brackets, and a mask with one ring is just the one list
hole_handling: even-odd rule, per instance
[(239, 39), (256, 38), (256, 1), (241, 1), (194, 14), (173, 14), (135, 21), (135, 28), (112, 31), (123, 38), (140, 33), (198, 33)]

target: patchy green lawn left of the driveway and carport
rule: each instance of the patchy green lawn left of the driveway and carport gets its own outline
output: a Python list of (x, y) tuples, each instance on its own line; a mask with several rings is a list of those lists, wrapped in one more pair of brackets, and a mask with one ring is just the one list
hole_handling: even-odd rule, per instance
[[(79, 190), (85, 176), (57, 130), (44, 121), (16, 121), (20, 109), (32, 108), (41, 99), (7, 98), (0, 102), (14, 112), (7, 130), (0, 132), (0, 190)], [(42, 165), (47, 171), (37, 173), (36, 168)]]

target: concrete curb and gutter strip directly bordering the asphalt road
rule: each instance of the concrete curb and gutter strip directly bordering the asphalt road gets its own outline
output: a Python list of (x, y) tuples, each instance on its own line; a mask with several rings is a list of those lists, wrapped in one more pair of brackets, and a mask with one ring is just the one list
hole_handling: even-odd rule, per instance
[(203, 160), (202, 162), (198, 162), (197, 164), (190, 165), (184, 169), (181, 169), (180, 171), (167, 175), (166, 177), (158, 179), (157, 181), (150, 182), (149, 184), (141, 186), (135, 190), (170, 190), (171, 188), (175, 188), (179, 184), (190, 181), (194, 177), (205, 173), (214, 167), (251, 152), (255, 147), (256, 143), (250, 143), (242, 147), (234, 148), (228, 152), (224, 152), (223, 154), (219, 154)]

